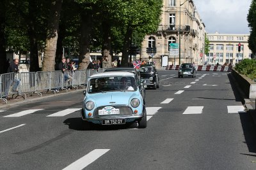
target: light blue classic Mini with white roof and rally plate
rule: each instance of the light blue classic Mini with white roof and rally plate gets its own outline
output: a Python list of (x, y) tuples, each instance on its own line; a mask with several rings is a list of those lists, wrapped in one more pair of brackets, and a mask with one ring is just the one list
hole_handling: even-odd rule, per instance
[(147, 127), (147, 113), (139, 81), (134, 74), (113, 71), (93, 74), (88, 78), (81, 117), (85, 129), (91, 124), (118, 125), (138, 121)]

